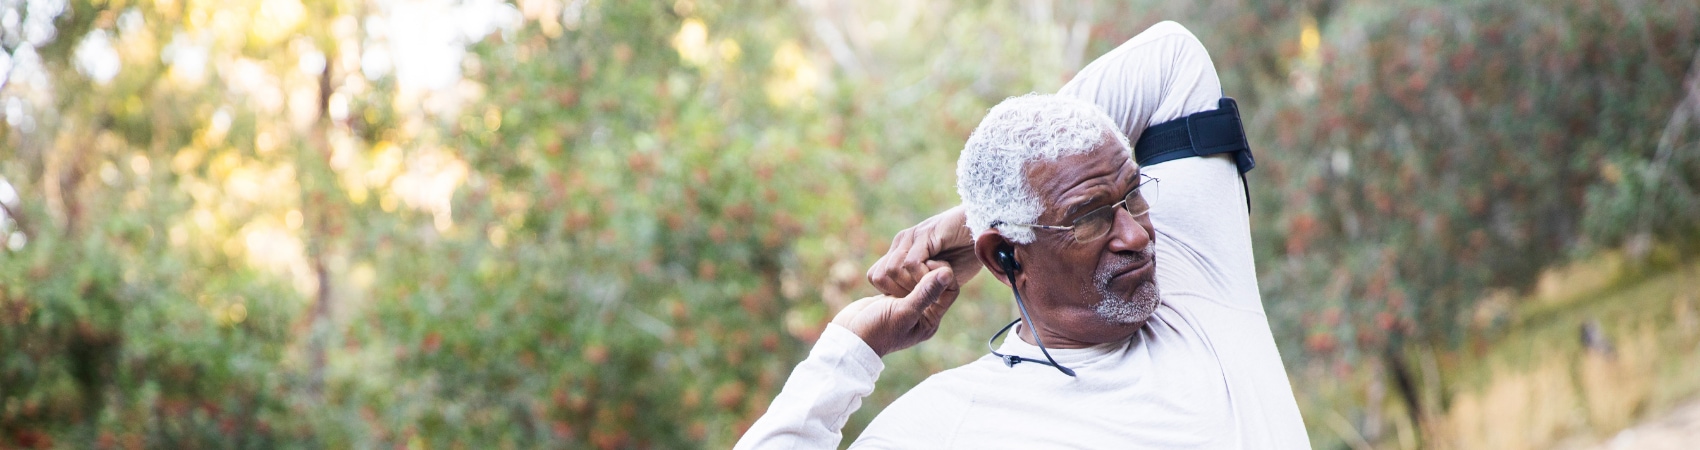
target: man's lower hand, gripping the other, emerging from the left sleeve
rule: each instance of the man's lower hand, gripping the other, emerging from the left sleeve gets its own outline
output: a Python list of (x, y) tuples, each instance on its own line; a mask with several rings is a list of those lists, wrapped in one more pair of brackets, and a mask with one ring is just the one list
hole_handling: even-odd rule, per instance
[(845, 306), (833, 323), (862, 338), (874, 353), (915, 346), (938, 331), (938, 321), (955, 302), (960, 285), (949, 267), (928, 272), (904, 297), (874, 295)]

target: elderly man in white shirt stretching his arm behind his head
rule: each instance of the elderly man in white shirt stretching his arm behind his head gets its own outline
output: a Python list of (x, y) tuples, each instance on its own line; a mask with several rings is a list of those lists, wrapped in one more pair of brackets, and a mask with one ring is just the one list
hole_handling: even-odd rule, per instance
[(930, 338), (986, 268), (1020, 338), (928, 377), (853, 447), (1307, 448), (1251, 262), (1250, 158), (1130, 155), (1219, 100), (1204, 46), (1163, 22), (1057, 95), (994, 107), (957, 165), (962, 205), (898, 234), (869, 272), (887, 295), (833, 319), (738, 447), (836, 447), (879, 358)]

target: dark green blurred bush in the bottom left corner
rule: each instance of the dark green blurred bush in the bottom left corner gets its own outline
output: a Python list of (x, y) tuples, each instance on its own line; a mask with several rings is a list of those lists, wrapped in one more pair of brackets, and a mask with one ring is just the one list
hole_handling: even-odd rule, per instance
[(252, 270), (170, 251), (139, 216), (102, 216), (87, 236), (32, 233), (5, 255), (0, 425), (10, 443), (294, 440), (275, 426), (299, 302)]

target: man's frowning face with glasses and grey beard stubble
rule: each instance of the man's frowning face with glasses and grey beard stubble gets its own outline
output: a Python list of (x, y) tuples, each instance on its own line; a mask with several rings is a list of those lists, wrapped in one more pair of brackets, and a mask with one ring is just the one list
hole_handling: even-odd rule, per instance
[[(1093, 151), (1027, 168), (1027, 182), (1046, 207), (1037, 224), (1049, 226), (1073, 226), (1088, 212), (1120, 202), (1139, 180), (1139, 165), (1114, 136)], [(1027, 255), (1020, 289), (1030, 299), (1028, 312), (1047, 331), (1047, 345), (1125, 340), (1156, 311), (1151, 216), (1136, 219), (1125, 209), (1114, 209), (1110, 217), (1108, 234), (1096, 239), (1034, 229), (1037, 239), (1022, 246)]]

